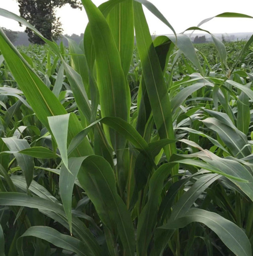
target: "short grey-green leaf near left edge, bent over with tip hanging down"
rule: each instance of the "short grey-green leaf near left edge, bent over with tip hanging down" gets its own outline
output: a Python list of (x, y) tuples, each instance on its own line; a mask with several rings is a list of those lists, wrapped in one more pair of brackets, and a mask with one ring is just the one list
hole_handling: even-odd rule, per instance
[[(2, 140), (11, 151), (21, 151), (21, 150), (30, 148), (30, 145), (28, 144), (27, 140), (24, 140), (24, 139), (17, 139), (15, 137), (11, 137), (11, 138), (2, 138)], [(23, 174), (26, 179), (27, 187), (29, 187), (33, 180), (34, 159), (33, 157), (30, 157), (28, 155), (23, 155), (21, 153), (13, 153), (13, 155), (15, 156), (18, 165), (23, 171)]]

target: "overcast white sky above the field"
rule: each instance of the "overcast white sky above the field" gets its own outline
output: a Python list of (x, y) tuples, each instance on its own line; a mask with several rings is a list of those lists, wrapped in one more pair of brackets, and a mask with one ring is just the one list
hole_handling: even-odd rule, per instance
[[(166, 17), (176, 33), (196, 26), (203, 19), (223, 12), (238, 12), (253, 16), (252, 0), (149, 0)], [(96, 6), (104, 0), (93, 0)], [(0, 0), (0, 8), (19, 14), (18, 4), (15, 0)], [(145, 9), (145, 8), (144, 8)], [(148, 10), (145, 10), (151, 34), (170, 34), (171, 31)], [(66, 5), (57, 11), (57, 16), (63, 25), (64, 34), (83, 33), (88, 22), (85, 11), (71, 9)], [(19, 24), (10, 19), (0, 17), (0, 26), (12, 30), (24, 30)], [(253, 32), (253, 19), (246, 18), (215, 18), (201, 26), (202, 29), (212, 33)]]

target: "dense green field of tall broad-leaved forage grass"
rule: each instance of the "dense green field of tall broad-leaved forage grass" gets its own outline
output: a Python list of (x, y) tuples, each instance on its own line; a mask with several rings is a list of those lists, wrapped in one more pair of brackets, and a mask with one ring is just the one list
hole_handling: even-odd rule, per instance
[(193, 45), (145, 0), (82, 3), (68, 48), (0, 9), (46, 43), (0, 29), (0, 256), (252, 256), (253, 36)]

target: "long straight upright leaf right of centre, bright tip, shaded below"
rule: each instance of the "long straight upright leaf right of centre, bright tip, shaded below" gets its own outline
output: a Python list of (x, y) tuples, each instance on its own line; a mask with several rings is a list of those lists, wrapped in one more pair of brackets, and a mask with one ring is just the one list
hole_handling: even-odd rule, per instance
[[(152, 43), (148, 25), (139, 3), (134, 2), (134, 23), (137, 47), (143, 68), (154, 121), (161, 139), (174, 139), (169, 94), (164, 82), (163, 72)], [(176, 152), (175, 144), (165, 147), (167, 158)]]

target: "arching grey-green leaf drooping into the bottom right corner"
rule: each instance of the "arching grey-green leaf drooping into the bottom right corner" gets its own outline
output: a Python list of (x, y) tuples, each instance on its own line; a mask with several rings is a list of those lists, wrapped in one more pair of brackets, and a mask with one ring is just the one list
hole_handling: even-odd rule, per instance
[(250, 241), (244, 231), (219, 214), (192, 208), (176, 220), (159, 229), (182, 228), (192, 222), (201, 222), (212, 229), (223, 243), (237, 256), (251, 256)]

